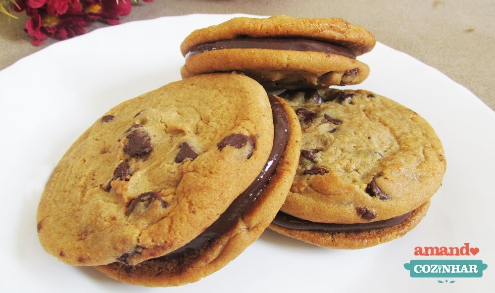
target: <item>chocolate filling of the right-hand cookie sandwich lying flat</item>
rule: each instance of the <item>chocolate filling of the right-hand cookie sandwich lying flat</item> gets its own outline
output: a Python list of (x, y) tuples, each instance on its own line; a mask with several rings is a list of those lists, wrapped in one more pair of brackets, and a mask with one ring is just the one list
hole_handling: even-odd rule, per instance
[(369, 223), (356, 223), (356, 224), (329, 224), (329, 223), (319, 223), (311, 222), (308, 220), (303, 220), (286, 214), (284, 212), (278, 212), (277, 216), (272, 223), (279, 225), (284, 228), (294, 229), (294, 230), (305, 230), (305, 231), (317, 231), (317, 232), (363, 232), (370, 231), (374, 229), (382, 229), (387, 227), (392, 227), (405, 221), (413, 211), (405, 213), (403, 215), (390, 218), (382, 221), (375, 221)]

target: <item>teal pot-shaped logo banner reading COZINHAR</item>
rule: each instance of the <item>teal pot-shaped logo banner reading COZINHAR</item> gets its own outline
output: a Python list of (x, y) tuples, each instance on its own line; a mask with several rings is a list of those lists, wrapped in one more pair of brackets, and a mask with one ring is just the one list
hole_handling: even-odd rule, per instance
[(481, 259), (415, 259), (404, 263), (412, 278), (481, 278), (487, 267)]

